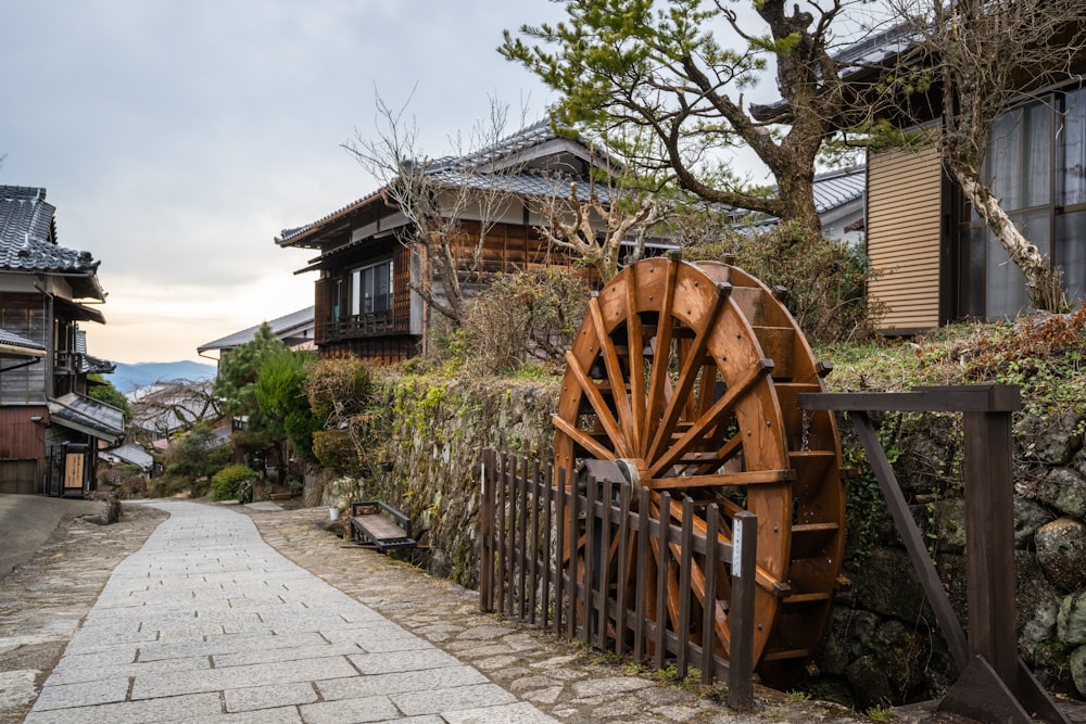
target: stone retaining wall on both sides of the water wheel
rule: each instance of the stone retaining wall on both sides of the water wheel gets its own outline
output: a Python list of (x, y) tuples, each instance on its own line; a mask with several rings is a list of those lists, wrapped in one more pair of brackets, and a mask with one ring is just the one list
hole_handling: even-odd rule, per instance
[[(492, 445), (548, 460), (558, 388), (535, 381), (390, 377), (378, 380), (388, 429), (387, 469), (374, 480), (332, 480), (323, 504), (376, 498), (411, 516), (425, 546), (416, 562), (476, 587), (479, 455)], [(906, 497), (965, 619), (959, 418), (909, 415), (881, 421)], [(1015, 425), (1015, 543), (1020, 650), (1050, 690), (1086, 695), (1086, 421), (1075, 415)], [(858, 471), (860, 448), (846, 435)], [(799, 686), (861, 710), (942, 694), (955, 670), (912, 573), (877, 483), (846, 481), (849, 533), (844, 574), (817, 675)]]

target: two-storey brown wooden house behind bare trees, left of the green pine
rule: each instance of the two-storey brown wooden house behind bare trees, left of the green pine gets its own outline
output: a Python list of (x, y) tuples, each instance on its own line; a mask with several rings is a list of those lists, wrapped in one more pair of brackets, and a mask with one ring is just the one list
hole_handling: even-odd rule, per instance
[[(571, 181), (578, 198), (588, 199), (593, 167), (606, 168), (607, 160), (582, 139), (556, 134), (547, 122), (426, 165), (434, 215), (446, 220), (455, 215), (458, 221), (450, 246), (467, 294), (494, 272), (570, 264), (536, 231), (545, 223), (540, 202), (567, 196)], [(607, 198), (605, 185), (596, 190)], [(414, 224), (392, 199), (383, 187), (276, 238), (279, 246), (317, 252), (298, 274), (319, 274), (314, 340), (321, 356), (390, 364), (421, 351), (437, 313), (416, 290), (430, 283), (434, 295), (443, 292), (435, 261), (413, 241)]]

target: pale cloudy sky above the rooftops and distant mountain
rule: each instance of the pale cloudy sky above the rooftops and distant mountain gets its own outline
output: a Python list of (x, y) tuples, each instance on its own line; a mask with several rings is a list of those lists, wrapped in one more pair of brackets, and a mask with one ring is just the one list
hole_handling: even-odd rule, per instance
[[(3, 2), (0, 183), (45, 187), (60, 243), (101, 262), (114, 361), (197, 347), (313, 304), (313, 252), (275, 236), (376, 189), (340, 144), (372, 135), (375, 91), (450, 151), (495, 98), (546, 90), (495, 48), (556, 20), (547, 0)], [(519, 122), (519, 111), (513, 114)], [(519, 125), (518, 123), (516, 125)], [(515, 128), (510, 128), (510, 131)]]

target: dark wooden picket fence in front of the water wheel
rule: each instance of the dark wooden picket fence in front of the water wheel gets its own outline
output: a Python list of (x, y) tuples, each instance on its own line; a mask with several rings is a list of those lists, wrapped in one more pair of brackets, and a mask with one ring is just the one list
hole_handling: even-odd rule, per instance
[[(733, 545), (718, 535), (728, 531), (728, 521), (716, 506), (705, 512), (704, 534), (692, 530), (689, 499), (682, 525), (642, 515), (651, 509), (651, 492), (635, 491), (614, 462), (590, 461), (571, 486), (565, 484), (564, 470), (557, 474), (555, 485), (550, 467), (483, 450), (480, 608), (657, 669), (673, 663), (680, 677), (697, 668), (704, 684), (727, 682), (730, 706), (749, 708), (756, 516), (743, 511), (732, 520)], [(658, 509), (668, 510), (668, 492), (660, 491), (659, 497)], [(672, 556), (675, 546), (681, 554)], [(565, 552), (569, 549), (574, 552)], [(682, 583), (691, 580), (695, 554), (706, 590), (717, 589), (718, 570), (731, 569), (727, 657), (715, 652), (715, 607), (695, 611), (694, 597), (687, 595), (679, 597), (678, 615), (667, 613), (668, 567), (678, 566), (672, 581), (689, 590)], [(704, 633), (692, 636), (698, 626), (691, 619), (698, 614), (705, 618), (699, 626)]]

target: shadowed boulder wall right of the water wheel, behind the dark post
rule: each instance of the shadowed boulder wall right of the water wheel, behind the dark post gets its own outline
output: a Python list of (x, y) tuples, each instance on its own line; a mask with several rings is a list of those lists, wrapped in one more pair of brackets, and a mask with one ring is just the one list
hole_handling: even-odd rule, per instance
[[(1052, 693), (1086, 698), (1086, 450), (1084, 419), (1023, 417), (1014, 427), (1019, 652)], [(881, 420), (884, 446), (963, 626), (964, 501), (960, 417)], [(859, 446), (843, 423), (846, 450)], [(847, 481), (849, 536), (842, 592), (803, 686), (861, 710), (932, 698), (954, 683), (952, 660), (870, 473)]]

